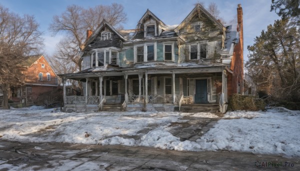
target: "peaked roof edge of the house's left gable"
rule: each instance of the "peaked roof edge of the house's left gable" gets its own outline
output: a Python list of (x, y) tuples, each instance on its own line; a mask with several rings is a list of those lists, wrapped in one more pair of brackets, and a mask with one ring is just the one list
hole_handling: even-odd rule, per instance
[(85, 42), (81, 45), (80, 49), (81, 51), (84, 50), (85, 46), (88, 45), (89, 43), (91, 43), (98, 35), (98, 33), (100, 32), (100, 30), (107, 25), (114, 33), (116, 33), (123, 41), (125, 41), (126, 39), (116, 30), (113, 28), (113, 26), (111, 26), (105, 19), (103, 19), (100, 22), (100, 25), (96, 28), (96, 30), (89, 36), (89, 38), (87, 38), (85, 40)]

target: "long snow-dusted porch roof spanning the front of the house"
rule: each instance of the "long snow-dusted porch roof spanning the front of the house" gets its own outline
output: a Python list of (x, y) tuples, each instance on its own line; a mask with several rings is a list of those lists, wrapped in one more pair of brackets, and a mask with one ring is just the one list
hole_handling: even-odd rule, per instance
[(77, 73), (66, 73), (59, 74), (59, 77), (62, 78), (88, 78), (88, 77), (99, 77), (99, 76), (122, 76), (122, 75), (137, 75), (141, 72), (146, 72), (147, 74), (180, 74), (180, 73), (213, 73), (213, 72), (222, 72), (226, 64), (190, 64), (190, 63), (181, 63), (173, 65), (159, 65), (159, 64), (148, 64), (135, 66), (130, 68), (111, 68), (111, 67), (96, 67), (88, 70), (84, 70)]

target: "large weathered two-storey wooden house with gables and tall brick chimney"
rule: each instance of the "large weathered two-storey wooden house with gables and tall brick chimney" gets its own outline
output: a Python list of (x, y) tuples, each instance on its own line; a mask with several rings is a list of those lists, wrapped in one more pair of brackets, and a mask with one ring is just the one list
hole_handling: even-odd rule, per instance
[(82, 82), (83, 96), (66, 96), (65, 111), (224, 112), (243, 86), (242, 8), (222, 24), (197, 4), (175, 27), (150, 10), (135, 29), (103, 20), (80, 47), (82, 71), (59, 75)]

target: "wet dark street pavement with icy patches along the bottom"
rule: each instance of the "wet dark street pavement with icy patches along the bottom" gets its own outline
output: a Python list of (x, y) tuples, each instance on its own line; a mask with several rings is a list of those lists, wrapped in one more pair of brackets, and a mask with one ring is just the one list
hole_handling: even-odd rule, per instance
[(229, 151), (186, 152), (148, 147), (0, 141), (0, 171), (253, 171), (261, 169), (299, 170), (300, 159)]

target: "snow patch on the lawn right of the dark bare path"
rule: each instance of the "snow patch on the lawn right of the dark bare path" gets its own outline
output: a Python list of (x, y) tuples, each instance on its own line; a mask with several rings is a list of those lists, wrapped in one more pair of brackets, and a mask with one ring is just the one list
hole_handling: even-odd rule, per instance
[(238, 111), (229, 115), (256, 118), (219, 120), (214, 128), (197, 140), (203, 149), (300, 156), (300, 115), (275, 110), (265, 113)]

